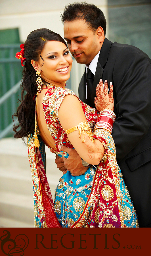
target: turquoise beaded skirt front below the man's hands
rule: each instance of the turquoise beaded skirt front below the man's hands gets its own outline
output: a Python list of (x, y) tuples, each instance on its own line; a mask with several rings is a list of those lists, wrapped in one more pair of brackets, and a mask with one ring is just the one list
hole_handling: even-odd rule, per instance
[[(67, 171), (60, 179), (56, 188), (54, 208), (62, 227), (71, 227), (77, 221), (85, 207), (95, 175), (93, 167), (89, 167), (85, 175), (90, 177), (89, 183), (86, 183), (87, 181), (83, 174), (73, 177)], [(79, 187), (80, 184), (81, 186)], [(61, 205), (59, 202), (61, 202)], [(72, 220), (70, 223), (68, 222), (69, 219)]]

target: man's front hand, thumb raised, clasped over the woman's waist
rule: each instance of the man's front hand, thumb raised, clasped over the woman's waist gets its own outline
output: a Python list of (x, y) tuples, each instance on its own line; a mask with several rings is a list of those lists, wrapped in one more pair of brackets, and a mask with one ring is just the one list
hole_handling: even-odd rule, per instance
[(82, 165), (81, 157), (78, 155), (75, 149), (67, 148), (66, 146), (58, 146), (58, 149), (69, 154), (68, 158), (62, 157), (62, 159), (67, 170), (72, 173), (72, 176), (79, 176), (87, 171), (89, 167)]

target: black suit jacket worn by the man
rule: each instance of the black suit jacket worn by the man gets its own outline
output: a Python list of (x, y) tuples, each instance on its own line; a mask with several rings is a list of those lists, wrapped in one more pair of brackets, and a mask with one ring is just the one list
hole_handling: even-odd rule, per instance
[[(86, 72), (79, 84), (85, 97)], [(113, 84), (116, 121), (112, 136), (117, 162), (138, 214), (140, 227), (151, 224), (151, 60), (135, 46), (104, 39), (89, 105), (95, 108), (95, 90), (102, 78)]]

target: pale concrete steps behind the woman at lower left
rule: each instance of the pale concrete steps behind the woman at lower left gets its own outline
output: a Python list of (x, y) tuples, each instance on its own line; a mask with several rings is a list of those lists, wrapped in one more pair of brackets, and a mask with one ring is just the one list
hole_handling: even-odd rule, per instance
[[(54, 192), (62, 176), (46, 147), (47, 179)], [(0, 226), (33, 227), (33, 194), (28, 148), (21, 139), (0, 140)]]

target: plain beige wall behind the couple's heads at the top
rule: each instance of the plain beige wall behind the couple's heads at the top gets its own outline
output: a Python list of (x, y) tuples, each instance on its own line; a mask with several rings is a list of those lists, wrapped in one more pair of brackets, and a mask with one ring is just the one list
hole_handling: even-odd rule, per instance
[[(28, 34), (38, 28), (49, 28), (63, 37), (60, 13), (64, 5), (71, 2), (68, 0), (0, 0), (0, 30), (19, 28), (21, 42), (25, 42)], [(97, 5), (108, 21), (107, 0), (87, 2)], [(108, 29), (106, 37), (108, 37)]]

